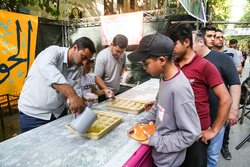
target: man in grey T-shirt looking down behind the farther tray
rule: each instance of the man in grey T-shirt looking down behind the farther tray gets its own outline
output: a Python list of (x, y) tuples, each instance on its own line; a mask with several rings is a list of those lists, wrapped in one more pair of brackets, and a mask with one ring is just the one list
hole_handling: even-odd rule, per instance
[[(98, 53), (95, 63), (95, 80), (100, 89), (110, 89), (117, 94), (121, 76), (127, 71), (126, 52), (128, 39), (122, 34), (113, 38), (111, 45)], [(102, 97), (103, 101), (105, 100)]]

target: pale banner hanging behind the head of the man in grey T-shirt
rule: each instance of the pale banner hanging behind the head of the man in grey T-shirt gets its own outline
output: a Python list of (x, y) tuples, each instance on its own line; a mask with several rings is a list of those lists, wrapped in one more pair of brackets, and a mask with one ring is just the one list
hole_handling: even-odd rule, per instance
[(128, 45), (138, 45), (143, 36), (143, 12), (101, 16), (102, 44), (110, 45), (114, 36), (123, 34)]

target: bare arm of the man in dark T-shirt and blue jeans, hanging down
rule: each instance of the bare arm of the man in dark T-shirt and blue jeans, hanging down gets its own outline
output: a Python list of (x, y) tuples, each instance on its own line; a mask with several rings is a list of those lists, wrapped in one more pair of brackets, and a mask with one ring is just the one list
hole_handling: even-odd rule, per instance
[(239, 101), (240, 101), (240, 95), (241, 95), (240, 85), (230, 86), (229, 92), (230, 92), (230, 95), (232, 97), (232, 105), (230, 108), (227, 123), (229, 125), (234, 125), (234, 124), (237, 124), (237, 122), (238, 122)]

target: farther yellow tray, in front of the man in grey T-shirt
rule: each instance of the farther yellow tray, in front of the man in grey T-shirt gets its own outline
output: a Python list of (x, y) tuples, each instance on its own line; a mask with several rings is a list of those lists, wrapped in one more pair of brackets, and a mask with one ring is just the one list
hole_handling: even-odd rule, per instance
[(129, 99), (113, 99), (106, 103), (107, 109), (121, 111), (131, 114), (139, 114), (144, 110), (146, 102), (129, 100)]

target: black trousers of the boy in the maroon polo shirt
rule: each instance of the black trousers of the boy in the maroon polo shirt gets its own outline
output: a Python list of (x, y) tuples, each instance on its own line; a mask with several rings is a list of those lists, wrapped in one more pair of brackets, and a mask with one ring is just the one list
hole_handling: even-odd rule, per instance
[(186, 157), (181, 167), (206, 167), (208, 146), (209, 144), (205, 144), (201, 140), (194, 142), (187, 148)]

